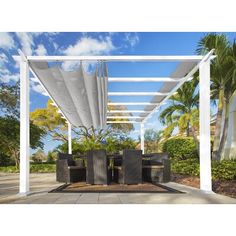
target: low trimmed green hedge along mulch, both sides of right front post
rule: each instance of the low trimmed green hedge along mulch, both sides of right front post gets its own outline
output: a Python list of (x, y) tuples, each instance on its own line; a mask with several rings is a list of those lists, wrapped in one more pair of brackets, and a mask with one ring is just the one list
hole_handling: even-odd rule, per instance
[[(172, 160), (171, 171), (176, 174), (199, 176), (200, 165), (198, 159)], [(212, 179), (236, 180), (236, 161), (212, 161)]]

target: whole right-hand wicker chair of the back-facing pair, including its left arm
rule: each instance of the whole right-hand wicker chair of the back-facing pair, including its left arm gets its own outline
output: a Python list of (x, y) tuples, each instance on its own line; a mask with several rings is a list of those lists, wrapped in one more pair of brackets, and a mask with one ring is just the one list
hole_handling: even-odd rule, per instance
[[(117, 163), (118, 164), (118, 163)], [(120, 165), (114, 163), (114, 180), (120, 184), (142, 183), (142, 151), (124, 150)]]

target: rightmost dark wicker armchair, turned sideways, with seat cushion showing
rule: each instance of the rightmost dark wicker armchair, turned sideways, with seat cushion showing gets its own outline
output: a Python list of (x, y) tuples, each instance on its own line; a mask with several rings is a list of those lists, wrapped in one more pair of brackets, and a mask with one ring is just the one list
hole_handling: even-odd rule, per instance
[(170, 181), (170, 160), (167, 153), (153, 153), (149, 160), (143, 160), (143, 180), (166, 183)]

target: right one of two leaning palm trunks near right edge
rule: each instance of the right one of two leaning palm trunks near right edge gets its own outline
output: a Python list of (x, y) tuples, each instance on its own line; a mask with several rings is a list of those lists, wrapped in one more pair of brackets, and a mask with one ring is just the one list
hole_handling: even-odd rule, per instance
[(222, 159), (222, 153), (225, 147), (225, 142), (227, 139), (227, 135), (228, 135), (228, 127), (229, 127), (229, 100), (225, 101), (225, 118), (224, 118), (224, 129), (223, 129), (223, 133), (222, 133), (222, 137), (220, 140), (220, 146), (219, 146), (219, 150), (217, 152), (217, 156), (216, 159), (217, 160), (221, 160)]

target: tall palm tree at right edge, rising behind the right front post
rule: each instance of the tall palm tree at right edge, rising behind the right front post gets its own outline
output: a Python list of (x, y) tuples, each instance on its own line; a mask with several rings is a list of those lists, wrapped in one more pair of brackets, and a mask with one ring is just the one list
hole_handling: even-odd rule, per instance
[[(211, 98), (218, 100), (213, 159), (220, 159), (227, 138), (229, 100), (235, 91), (235, 43), (230, 45), (224, 34), (210, 33), (198, 43), (198, 54), (215, 49), (216, 59), (211, 63)], [(222, 139), (223, 111), (225, 111)]]

